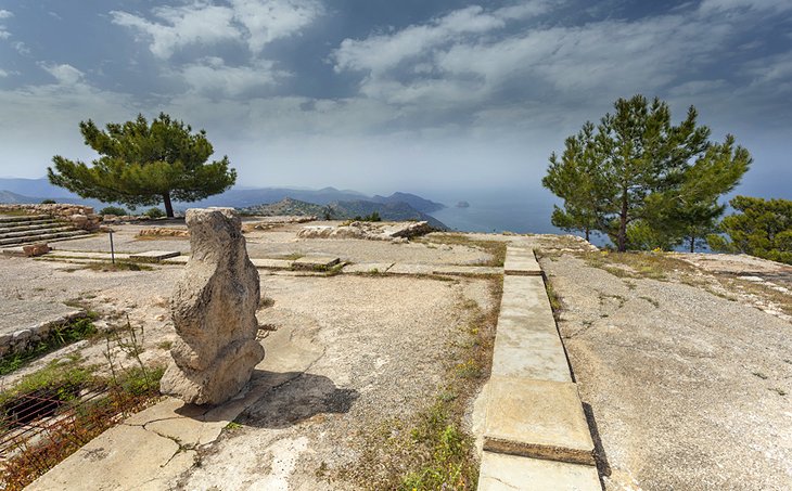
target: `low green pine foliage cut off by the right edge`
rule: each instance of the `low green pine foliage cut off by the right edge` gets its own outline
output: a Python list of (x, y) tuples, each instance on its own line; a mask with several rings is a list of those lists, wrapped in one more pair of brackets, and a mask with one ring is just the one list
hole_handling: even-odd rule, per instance
[(728, 240), (708, 235), (710, 247), (792, 264), (792, 201), (737, 196), (729, 204), (737, 212), (720, 222)]

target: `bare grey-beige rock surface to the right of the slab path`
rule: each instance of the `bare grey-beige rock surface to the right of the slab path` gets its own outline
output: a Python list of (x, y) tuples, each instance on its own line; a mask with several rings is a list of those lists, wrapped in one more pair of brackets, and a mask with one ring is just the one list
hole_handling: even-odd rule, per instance
[(605, 488), (788, 490), (792, 323), (675, 257), (541, 259)]

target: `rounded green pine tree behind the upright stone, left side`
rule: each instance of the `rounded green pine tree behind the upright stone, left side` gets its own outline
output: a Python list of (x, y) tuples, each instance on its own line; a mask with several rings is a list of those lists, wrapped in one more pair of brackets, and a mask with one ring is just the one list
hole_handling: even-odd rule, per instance
[(100, 130), (81, 121), (85, 142), (100, 157), (87, 165), (60, 155), (47, 175), (54, 185), (85, 198), (122, 203), (135, 209), (163, 203), (174, 216), (171, 201), (194, 202), (222, 193), (237, 180), (228, 157), (209, 164), (214, 153), (206, 132), (192, 133), (182, 121), (161, 113), (151, 125), (142, 115), (132, 121), (108, 124)]

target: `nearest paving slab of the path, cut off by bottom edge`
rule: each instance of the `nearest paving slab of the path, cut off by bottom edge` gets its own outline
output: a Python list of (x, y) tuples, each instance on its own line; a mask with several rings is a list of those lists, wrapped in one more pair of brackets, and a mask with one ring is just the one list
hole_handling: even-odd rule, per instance
[(478, 491), (601, 491), (597, 468), (484, 452)]

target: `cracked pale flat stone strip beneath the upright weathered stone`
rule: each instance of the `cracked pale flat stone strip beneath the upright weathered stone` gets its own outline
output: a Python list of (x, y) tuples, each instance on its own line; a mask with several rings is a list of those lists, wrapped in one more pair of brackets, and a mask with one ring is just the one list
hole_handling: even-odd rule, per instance
[(217, 406), (167, 398), (104, 431), (50, 469), (30, 490), (162, 490), (194, 464), (193, 449), (217, 440), (244, 410), (281, 385), (299, 377), (324, 353), (294, 328), (266, 338), (267, 358), (245, 391)]

